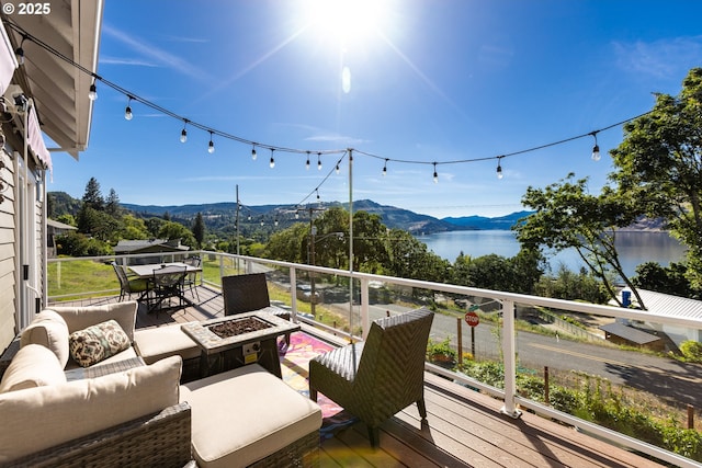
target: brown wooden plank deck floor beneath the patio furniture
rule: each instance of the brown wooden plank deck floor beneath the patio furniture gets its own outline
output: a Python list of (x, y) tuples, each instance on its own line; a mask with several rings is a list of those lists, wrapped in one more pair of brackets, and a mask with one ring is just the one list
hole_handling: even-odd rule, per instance
[[(147, 315), (139, 308), (137, 328), (206, 320), (224, 315), (222, 296), (199, 287), (189, 307)], [(76, 305), (106, 304), (116, 297)], [(63, 305), (63, 304), (61, 304)], [(309, 331), (306, 326), (303, 330)], [(410, 406), (381, 427), (372, 449), (363, 423), (321, 443), (326, 467), (659, 467), (624, 449), (556, 422), (524, 412), (518, 420), (500, 413), (501, 401), (426, 373), (427, 424)]]

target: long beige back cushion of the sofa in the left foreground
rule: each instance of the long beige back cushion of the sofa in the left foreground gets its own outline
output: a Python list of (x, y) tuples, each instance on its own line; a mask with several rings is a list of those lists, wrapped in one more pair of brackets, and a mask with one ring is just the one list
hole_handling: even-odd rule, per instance
[(180, 356), (104, 377), (0, 393), (0, 466), (179, 401)]

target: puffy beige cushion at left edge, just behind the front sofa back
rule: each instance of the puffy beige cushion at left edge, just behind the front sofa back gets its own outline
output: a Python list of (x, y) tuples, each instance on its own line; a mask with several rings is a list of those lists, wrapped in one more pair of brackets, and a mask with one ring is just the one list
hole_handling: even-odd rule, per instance
[(0, 393), (65, 383), (64, 367), (56, 354), (41, 344), (27, 344), (18, 351), (4, 372)]

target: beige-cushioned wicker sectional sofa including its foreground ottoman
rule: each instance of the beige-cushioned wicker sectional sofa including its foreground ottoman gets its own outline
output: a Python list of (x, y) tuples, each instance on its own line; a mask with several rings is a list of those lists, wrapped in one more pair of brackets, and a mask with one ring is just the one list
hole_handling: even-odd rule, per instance
[[(0, 466), (318, 463), (316, 403), (258, 364), (182, 383), (183, 358), (197, 361), (194, 343), (182, 340), (179, 326), (135, 331), (136, 307), (54, 308), (23, 331), (0, 369)], [(98, 324), (114, 329), (109, 320), (128, 345), (78, 366), (76, 335)], [(120, 342), (116, 334), (110, 343)]]

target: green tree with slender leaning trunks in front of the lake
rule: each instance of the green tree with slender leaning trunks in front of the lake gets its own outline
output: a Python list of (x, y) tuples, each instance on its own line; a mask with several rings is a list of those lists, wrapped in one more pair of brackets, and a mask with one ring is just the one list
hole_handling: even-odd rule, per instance
[(645, 309), (614, 246), (616, 229), (630, 226), (635, 219), (631, 198), (614, 194), (609, 187), (604, 187), (600, 195), (591, 195), (587, 190), (587, 179), (574, 181), (574, 178), (575, 174), (570, 173), (566, 180), (546, 189), (530, 186), (526, 190), (522, 204), (535, 213), (513, 227), (517, 239), (524, 249), (575, 249), (611, 298), (621, 305), (610, 274), (614, 273)]

